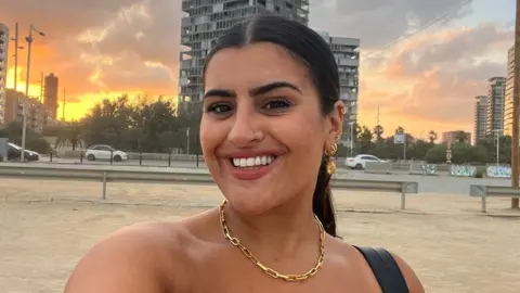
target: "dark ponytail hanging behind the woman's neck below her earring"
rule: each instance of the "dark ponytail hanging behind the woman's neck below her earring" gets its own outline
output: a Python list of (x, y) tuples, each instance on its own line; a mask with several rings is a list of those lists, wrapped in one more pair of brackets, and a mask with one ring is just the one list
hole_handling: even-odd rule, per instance
[(320, 165), (320, 173), (317, 174), (316, 188), (312, 196), (312, 211), (317, 216), (325, 229), (325, 232), (333, 237), (338, 237), (336, 233), (336, 216), (333, 206), (333, 194), (329, 182), (330, 175), (327, 173), (327, 164), (329, 157), (323, 155), (322, 164)]

